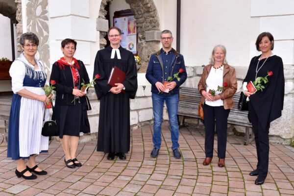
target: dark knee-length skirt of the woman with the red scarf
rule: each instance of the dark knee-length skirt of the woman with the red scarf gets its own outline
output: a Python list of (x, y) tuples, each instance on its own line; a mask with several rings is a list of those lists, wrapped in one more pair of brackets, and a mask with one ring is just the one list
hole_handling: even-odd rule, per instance
[(86, 104), (55, 105), (52, 119), (59, 126), (59, 138), (63, 138), (63, 135), (79, 136), (80, 132), (90, 133)]

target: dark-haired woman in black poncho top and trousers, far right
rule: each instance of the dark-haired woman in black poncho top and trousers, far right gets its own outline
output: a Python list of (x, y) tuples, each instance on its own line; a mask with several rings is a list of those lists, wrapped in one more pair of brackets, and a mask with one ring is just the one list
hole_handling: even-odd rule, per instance
[[(249, 98), (248, 119), (252, 123), (257, 150), (257, 168), (250, 175), (258, 175), (256, 185), (264, 183), (269, 171), (269, 129), (270, 122), (282, 115), (284, 104), (284, 68), (281, 57), (274, 55), (273, 36), (269, 32), (261, 33), (256, 40), (256, 49), (262, 54), (251, 59), (248, 72), (243, 81), (244, 94)], [(262, 85), (263, 91), (252, 94), (247, 91), (246, 84), (257, 77), (265, 77), (269, 72), (269, 82)]]

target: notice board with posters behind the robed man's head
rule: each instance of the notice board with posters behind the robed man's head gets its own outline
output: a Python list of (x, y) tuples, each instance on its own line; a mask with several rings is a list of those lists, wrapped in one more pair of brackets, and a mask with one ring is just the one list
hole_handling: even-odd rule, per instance
[(121, 46), (137, 55), (137, 25), (133, 12), (130, 9), (114, 12), (113, 24), (122, 30)]

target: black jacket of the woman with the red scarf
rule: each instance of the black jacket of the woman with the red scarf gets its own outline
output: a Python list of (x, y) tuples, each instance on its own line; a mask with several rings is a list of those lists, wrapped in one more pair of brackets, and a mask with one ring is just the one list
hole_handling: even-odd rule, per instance
[[(90, 79), (87, 73), (87, 70), (85, 68), (85, 65), (82, 61), (77, 60), (79, 64), (79, 89), (81, 89), (82, 85), (81, 83), (83, 80), (85, 81), (85, 84), (90, 83)], [(74, 100), (73, 95), (73, 74), (71, 71), (70, 66), (62, 66), (57, 61), (53, 64), (50, 80), (55, 80), (56, 84), (53, 86), (56, 87), (54, 90), (56, 91), (56, 98), (55, 98), (55, 104), (56, 105), (74, 105), (78, 99)], [(74, 100), (74, 101), (73, 101)], [(86, 101), (85, 97), (79, 98), (80, 102)]]

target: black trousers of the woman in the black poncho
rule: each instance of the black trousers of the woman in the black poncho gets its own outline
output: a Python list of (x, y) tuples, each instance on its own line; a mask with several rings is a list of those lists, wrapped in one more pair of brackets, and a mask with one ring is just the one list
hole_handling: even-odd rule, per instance
[(258, 122), (258, 116), (250, 103), (248, 102), (249, 110), (249, 120), (252, 123), (252, 129), (254, 132), (254, 139), (257, 151), (257, 166), (256, 170), (258, 171), (258, 180), (266, 179), (269, 171), (269, 129), (270, 124), (268, 124), (266, 130), (264, 130), (261, 124)]

